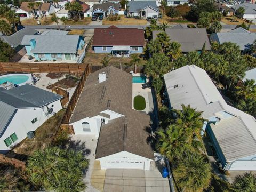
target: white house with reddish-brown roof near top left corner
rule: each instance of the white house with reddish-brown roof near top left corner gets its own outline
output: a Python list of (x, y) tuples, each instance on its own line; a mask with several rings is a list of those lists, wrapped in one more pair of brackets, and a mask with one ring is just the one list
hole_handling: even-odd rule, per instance
[(40, 16), (49, 16), (50, 14), (55, 12), (54, 6), (51, 3), (42, 3), (40, 7), (34, 6), (35, 12), (30, 9), (28, 6), (29, 2), (22, 2), (20, 8), (16, 11), (16, 13), (20, 17), (33, 18), (34, 14), (36, 17)]

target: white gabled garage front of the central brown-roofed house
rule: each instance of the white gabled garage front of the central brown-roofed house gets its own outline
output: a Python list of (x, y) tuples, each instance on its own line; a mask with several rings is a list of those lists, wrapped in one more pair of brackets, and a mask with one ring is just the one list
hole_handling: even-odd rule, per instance
[[(145, 157), (141, 157), (139, 155), (135, 155), (132, 153), (129, 153), (127, 151), (122, 151), (120, 153), (116, 153), (113, 155), (109, 155), (106, 157), (102, 157), (97, 159), (100, 161), (100, 166), (101, 169), (108, 169), (108, 163), (107, 162), (119, 162), (116, 163), (116, 165), (118, 166), (117, 168), (122, 168), (122, 163), (125, 167), (125, 169), (134, 169), (134, 163), (126, 163), (126, 162), (144, 162), (144, 170), (150, 170), (150, 162), (153, 161), (151, 159), (145, 158)], [(115, 168), (115, 163), (113, 163), (114, 165), (111, 165), (111, 168)], [(142, 169), (143, 169), (142, 168)]]

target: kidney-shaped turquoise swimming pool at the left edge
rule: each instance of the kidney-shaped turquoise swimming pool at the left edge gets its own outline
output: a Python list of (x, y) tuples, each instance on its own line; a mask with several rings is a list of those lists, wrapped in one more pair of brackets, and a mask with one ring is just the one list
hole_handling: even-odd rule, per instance
[(9, 74), (9, 75), (3, 75), (0, 76), (0, 84), (4, 82), (11, 82), (16, 85), (22, 85), (31, 80), (30, 74)]

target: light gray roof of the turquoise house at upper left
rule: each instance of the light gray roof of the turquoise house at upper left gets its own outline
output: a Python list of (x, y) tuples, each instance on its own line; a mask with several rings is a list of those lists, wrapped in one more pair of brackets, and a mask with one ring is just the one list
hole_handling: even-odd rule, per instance
[(35, 39), (35, 49), (31, 53), (76, 53), (79, 35), (25, 35), (22, 45), (30, 45), (29, 41)]

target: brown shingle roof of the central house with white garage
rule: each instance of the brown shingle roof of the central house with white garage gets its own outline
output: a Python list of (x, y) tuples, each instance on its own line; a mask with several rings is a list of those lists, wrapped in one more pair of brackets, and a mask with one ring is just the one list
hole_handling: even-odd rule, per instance
[[(107, 79), (99, 83), (98, 75), (102, 72), (106, 73)], [(148, 133), (145, 131), (145, 128), (150, 126), (150, 116), (132, 109), (132, 75), (111, 66), (87, 77), (70, 123), (96, 116), (107, 109), (125, 117), (119, 117), (102, 125), (96, 158), (128, 151), (154, 159), (154, 153), (146, 141)]]

